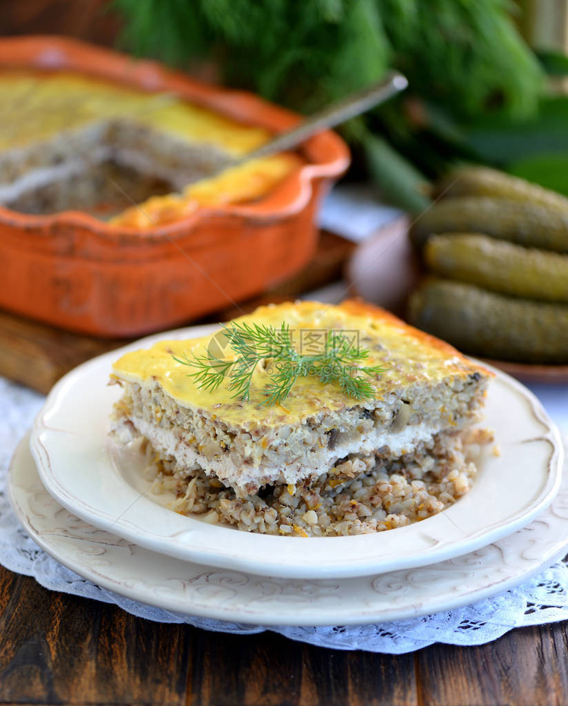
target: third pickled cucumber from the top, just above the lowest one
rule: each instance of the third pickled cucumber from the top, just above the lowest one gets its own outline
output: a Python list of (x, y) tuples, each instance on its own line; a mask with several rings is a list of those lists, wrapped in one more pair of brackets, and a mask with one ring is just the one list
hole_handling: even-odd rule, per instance
[(429, 238), (424, 259), (438, 275), (492, 292), (568, 302), (568, 255), (456, 233)]

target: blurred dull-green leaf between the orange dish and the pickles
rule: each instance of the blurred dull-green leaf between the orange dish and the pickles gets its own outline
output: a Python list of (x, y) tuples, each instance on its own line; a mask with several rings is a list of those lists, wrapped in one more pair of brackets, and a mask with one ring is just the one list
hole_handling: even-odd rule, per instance
[(411, 213), (420, 213), (430, 203), (430, 183), (383, 138), (368, 133), (363, 140), (368, 169), (382, 196)]

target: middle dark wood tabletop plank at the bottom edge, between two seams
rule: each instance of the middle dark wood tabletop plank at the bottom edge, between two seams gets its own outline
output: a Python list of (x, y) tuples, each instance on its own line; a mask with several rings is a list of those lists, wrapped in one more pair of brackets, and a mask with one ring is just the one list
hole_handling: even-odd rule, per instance
[(191, 706), (416, 704), (413, 656), (327, 650), (281, 635), (191, 640)]

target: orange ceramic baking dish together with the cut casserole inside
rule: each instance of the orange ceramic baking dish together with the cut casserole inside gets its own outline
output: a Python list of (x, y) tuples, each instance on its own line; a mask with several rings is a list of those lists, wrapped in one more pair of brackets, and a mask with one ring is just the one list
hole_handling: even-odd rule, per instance
[(0, 40), (0, 306), (93, 335), (171, 328), (315, 251), (349, 150), (324, 131), (239, 163), (299, 116), (59, 37)]

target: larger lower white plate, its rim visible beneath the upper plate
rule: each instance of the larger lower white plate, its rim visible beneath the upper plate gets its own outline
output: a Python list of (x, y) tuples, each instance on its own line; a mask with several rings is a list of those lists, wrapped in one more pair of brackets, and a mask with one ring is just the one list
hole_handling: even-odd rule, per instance
[(342, 580), (262, 578), (207, 568), (97, 530), (44, 489), (28, 438), (13, 457), (8, 490), (37, 544), (97, 585), (166, 610), (265, 626), (361, 625), (450, 610), (507, 590), (568, 548), (568, 473), (534, 522), (495, 544), (433, 566)]

